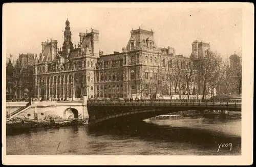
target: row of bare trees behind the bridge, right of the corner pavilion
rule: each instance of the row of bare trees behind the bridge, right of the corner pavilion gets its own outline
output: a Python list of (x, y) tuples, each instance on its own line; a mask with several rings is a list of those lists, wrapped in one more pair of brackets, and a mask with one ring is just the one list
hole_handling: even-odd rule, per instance
[[(143, 95), (159, 93), (167, 94), (172, 98), (172, 93), (186, 94), (189, 99), (190, 94), (202, 94), (205, 99), (206, 94), (214, 96), (214, 90), (219, 94), (241, 94), (242, 87), (242, 65), (230, 67), (229, 61), (223, 61), (220, 55), (208, 52), (203, 59), (191, 60), (191, 65), (187, 69), (163, 69), (159, 70), (158, 78), (145, 79), (145, 72), (141, 71), (140, 81), (137, 84), (138, 92)], [(193, 90), (194, 88), (194, 90)], [(196, 90), (195, 90), (196, 88)], [(191, 93), (192, 92), (192, 93)]]

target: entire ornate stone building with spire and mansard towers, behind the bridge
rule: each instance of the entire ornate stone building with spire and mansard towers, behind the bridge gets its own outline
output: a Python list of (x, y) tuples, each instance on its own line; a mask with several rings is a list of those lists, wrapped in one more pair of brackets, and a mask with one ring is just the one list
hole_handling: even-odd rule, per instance
[[(14, 70), (16, 98), (27, 97), (25, 89), (33, 98), (42, 100), (74, 100), (83, 96), (156, 98), (187, 91), (195, 94), (196, 78), (188, 83), (176, 75), (191, 68), (191, 58), (176, 55), (172, 47), (159, 48), (152, 30), (132, 30), (122, 52), (104, 55), (99, 48), (98, 30), (79, 33), (79, 42), (74, 45), (69, 20), (65, 24), (61, 48), (57, 47), (57, 40), (51, 39), (41, 43), (39, 56), (19, 56)], [(198, 58), (203, 57), (209, 44), (194, 41), (192, 47), (191, 57)], [(21, 69), (28, 71), (26, 76), (21, 75)]]

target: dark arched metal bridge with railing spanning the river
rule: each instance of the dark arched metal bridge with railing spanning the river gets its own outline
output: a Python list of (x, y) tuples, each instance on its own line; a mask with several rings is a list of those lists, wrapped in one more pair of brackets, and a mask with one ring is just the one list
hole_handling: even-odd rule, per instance
[(241, 100), (89, 100), (87, 108), (89, 124), (97, 125), (109, 121), (112, 123), (140, 121), (182, 110), (241, 111)]

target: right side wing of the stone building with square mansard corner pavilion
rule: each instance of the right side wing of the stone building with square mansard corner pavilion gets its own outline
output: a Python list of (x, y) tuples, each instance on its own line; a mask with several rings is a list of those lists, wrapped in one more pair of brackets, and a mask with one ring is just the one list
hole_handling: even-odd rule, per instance
[[(177, 93), (177, 83), (171, 76), (190, 66), (190, 59), (175, 55), (174, 48), (158, 48), (153, 31), (132, 30), (121, 53), (101, 55), (97, 60), (95, 95), (104, 98), (156, 98), (157, 95)], [(189, 87), (192, 93), (194, 78)]]

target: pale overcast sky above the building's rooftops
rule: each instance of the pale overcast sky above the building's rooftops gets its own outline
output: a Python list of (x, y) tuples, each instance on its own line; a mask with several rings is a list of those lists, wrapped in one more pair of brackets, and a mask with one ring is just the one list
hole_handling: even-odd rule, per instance
[[(136, 7), (136, 8), (135, 8)], [(142, 8), (143, 7), (143, 8)], [(196, 6), (116, 7), (90, 4), (7, 4), (3, 26), (6, 28), (7, 55), (41, 52), (47, 39), (63, 43), (67, 18), (72, 42), (79, 41), (79, 32), (99, 30), (100, 49), (104, 54), (121, 51), (132, 29), (153, 30), (158, 47), (174, 47), (176, 54), (189, 56), (194, 40), (210, 42), (212, 50), (227, 57), (242, 50), (242, 10), (234, 8), (196, 8)], [(3, 41), (5, 42), (5, 41)]]

